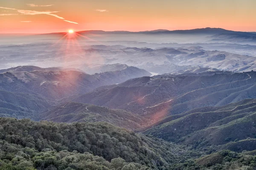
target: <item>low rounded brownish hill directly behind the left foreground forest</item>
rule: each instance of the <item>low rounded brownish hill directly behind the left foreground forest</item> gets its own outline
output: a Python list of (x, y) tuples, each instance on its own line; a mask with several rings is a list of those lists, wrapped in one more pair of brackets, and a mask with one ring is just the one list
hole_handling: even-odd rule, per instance
[(96, 105), (68, 102), (52, 106), (49, 111), (40, 113), (35, 120), (53, 122), (109, 122), (126, 129), (138, 129), (146, 125), (143, 116), (124, 110), (113, 110)]

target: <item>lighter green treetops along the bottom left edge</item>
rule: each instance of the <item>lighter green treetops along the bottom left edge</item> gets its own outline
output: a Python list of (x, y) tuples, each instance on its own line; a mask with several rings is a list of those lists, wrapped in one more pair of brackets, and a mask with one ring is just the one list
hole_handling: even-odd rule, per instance
[[(128, 163), (122, 158), (111, 162), (92, 154), (53, 151), (44, 149), (41, 152), (34, 148), (19, 148), (15, 144), (3, 144), (0, 170), (149, 170), (145, 165)], [(7, 147), (10, 147), (7, 150)]]

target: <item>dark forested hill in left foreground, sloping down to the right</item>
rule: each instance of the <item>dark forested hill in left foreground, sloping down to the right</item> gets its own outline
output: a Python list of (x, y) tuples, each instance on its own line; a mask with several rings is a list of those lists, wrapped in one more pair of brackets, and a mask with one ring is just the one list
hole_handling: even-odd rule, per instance
[(84, 162), (84, 166), (102, 164), (108, 167), (110, 164), (106, 161), (112, 162), (120, 157), (122, 159), (117, 162), (124, 161), (124, 165), (126, 161), (139, 167), (145, 165), (150, 169), (163, 170), (177, 162), (185, 151), (172, 143), (137, 135), (106, 122), (66, 124), (0, 118), (0, 143), (0, 159), (8, 159), (9, 162), (5, 163), (9, 166), (22, 166), (23, 162), (23, 166), (37, 169), (73, 166), (78, 170), (78, 163), (90, 157), (94, 159)]

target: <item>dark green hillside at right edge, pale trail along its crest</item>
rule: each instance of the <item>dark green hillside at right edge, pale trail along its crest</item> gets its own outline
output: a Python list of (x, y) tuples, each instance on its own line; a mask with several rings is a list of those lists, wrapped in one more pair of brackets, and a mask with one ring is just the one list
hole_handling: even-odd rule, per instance
[(197, 108), (169, 116), (145, 127), (143, 133), (195, 148), (217, 146), (217, 150), (256, 150), (256, 99), (222, 107)]

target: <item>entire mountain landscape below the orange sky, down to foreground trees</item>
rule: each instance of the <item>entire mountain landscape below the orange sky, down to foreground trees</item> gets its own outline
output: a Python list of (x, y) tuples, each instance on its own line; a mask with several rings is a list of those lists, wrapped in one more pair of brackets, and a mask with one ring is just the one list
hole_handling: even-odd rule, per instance
[(256, 170), (255, 35), (0, 35), (0, 170)]

